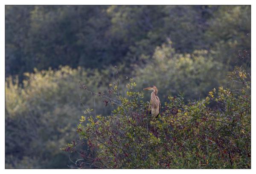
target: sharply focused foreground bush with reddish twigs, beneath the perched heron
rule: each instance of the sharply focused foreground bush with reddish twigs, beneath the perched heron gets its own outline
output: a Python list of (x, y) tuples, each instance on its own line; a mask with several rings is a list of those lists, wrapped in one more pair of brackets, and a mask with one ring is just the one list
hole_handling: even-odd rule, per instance
[[(116, 105), (110, 116), (87, 110), (77, 127), (80, 139), (64, 151), (79, 153), (77, 168), (250, 168), (250, 74), (229, 74), (239, 89), (211, 90), (196, 102), (169, 96), (157, 119), (130, 79), (126, 96), (112, 84)], [(208, 107), (214, 103), (215, 107)], [(85, 143), (87, 150), (78, 145)]]

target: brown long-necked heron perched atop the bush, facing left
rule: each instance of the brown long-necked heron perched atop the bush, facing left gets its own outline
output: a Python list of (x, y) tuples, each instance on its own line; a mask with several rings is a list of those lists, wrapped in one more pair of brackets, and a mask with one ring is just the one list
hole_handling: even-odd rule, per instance
[(160, 113), (160, 108), (161, 108), (161, 102), (160, 99), (157, 96), (157, 87), (151, 86), (151, 87), (146, 87), (143, 90), (153, 90), (151, 93), (151, 99), (150, 99), (150, 112), (153, 118), (157, 118), (157, 116)]

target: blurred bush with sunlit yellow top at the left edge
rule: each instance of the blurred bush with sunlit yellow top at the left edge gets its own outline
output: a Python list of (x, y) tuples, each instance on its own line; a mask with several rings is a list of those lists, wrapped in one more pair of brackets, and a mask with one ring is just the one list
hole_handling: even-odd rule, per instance
[[(76, 139), (76, 120), (84, 113), (85, 107), (105, 114), (111, 110), (102, 108), (104, 104), (99, 98), (95, 99), (94, 107), (93, 96), (79, 88), (79, 81), (85, 82), (90, 90), (100, 90), (100, 85), (109, 83), (111, 76), (107, 74), (107, 70), (100, 74), (98, 70), (60, 67), (58, 71), (35, 69), (35, 73), (26, 73), (23, 86), (16, 78), (7, 78), (6, 166), (27, 168), (29, 166), (20, 162), (28, 157), (40, 160), (40, 164), (35, 162), (31, 168), (67, 167), (66, 162), (58, 160), (68, 159), (59, 148)], [(20, 160), (12, 162), (14, 155)]]

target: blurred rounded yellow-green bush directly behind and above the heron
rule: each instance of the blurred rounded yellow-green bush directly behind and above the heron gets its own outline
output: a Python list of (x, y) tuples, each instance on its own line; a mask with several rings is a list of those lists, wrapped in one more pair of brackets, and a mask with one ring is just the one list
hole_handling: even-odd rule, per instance
[(153, 59), (135, 72), (138, 88), (155, 85), (160, 99), (184, 93), (186, 99), (204, 97), (213, 87), (224, 84), (227, 72), (206, 50), (177, 54), (172, 43), (157, 47)]

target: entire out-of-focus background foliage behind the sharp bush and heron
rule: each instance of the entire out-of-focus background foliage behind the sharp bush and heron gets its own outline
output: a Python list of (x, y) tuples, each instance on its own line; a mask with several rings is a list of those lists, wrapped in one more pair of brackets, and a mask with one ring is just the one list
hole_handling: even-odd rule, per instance
[(68, 168), (59, 148), (83, 111), (113, 107), (79, 81), (109, 93), (115, 65), (120, 91), (135, 78), (165, 102), (203, 98), (250, 61), (250, 6), (6, 6), (5, 19), (6, 168)]

